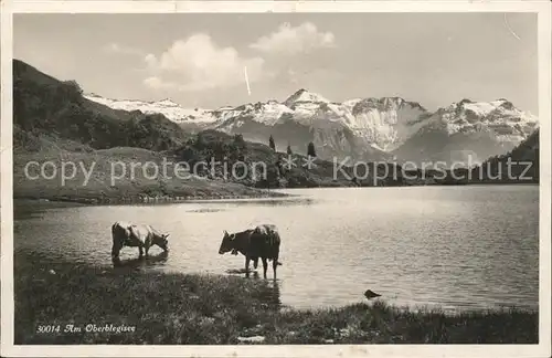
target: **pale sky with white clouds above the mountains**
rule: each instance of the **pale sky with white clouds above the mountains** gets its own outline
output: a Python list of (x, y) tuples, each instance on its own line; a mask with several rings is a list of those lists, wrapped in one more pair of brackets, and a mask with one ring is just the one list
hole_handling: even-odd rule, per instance
[(507, 98), (537, 115), (537, 49), (532, 13), (13, 15), (13, 56), (42, 72), (104, 97), (201, 108), (306, 88), (431, 110)]

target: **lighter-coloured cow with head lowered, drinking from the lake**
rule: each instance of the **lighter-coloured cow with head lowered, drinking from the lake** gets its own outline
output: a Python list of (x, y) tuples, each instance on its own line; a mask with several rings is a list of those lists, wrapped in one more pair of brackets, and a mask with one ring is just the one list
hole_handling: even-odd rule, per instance
[(146, 250), (148, 255), (149, 248), (158, 245), (164, 252), (169, 251), (169, 234), (163, 234), (151, 225), (136, 225), (127, 222), (116, 222), (112, 225), (113, 248), (112, 259), (117, 260), (123, 246), (138, 248), (140, 257)]

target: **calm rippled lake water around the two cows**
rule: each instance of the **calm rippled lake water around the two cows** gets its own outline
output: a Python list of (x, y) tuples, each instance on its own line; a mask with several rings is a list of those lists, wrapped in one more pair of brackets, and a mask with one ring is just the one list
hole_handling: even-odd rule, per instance
[[(152, 259), (140, 270), (230, 274), (243, 268), (244, 257), (219, 255), (223, 230), (273, 223), (283, 240), (278, 286), (285, 305), (358, 303), (370, 288), (399, 305), (538, 309), (537, 186), (288, 192), (298, 197), (49, 209), (15, 218), (14, 245), (113, 267), (110, 225), (125, 220), (171, 234), (167, 260)], [(155, 246), (150, 254), (159, 252)], [(124, 261), (137, 256), (137, 249), (121, 252)]]

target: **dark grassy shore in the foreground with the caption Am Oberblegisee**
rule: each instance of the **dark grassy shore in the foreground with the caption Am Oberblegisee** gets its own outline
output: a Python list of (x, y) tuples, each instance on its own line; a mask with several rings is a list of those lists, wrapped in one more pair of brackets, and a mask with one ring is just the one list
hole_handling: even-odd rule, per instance
[[(445, 315), (383, 302), (299, 310), (280, 305), (270, 278), (91, 267), (17, 253), (14, 284), (15, 344), (538, 343), (535, 312)], [(86, 333), (87, 324), (136, 330)], [(40, 325), (60, 333), (38, 333)], [(66, 325), (83, 330), (64, 333)]]

